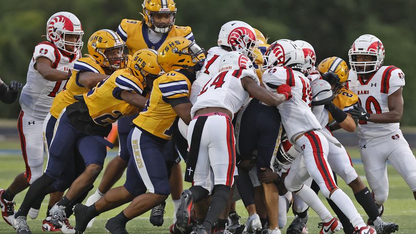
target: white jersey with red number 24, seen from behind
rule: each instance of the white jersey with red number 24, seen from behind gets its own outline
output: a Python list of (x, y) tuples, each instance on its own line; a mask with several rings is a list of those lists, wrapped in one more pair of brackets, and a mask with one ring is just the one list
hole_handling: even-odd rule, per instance
[(246, 100), (249, 99), (248, 92), (244, 89), (240, 78), (251, 77), (258, 84), (259, 78), (250, 69), (233, 69), (217, 73), (214, 79), (206, 83), (191, 109), (191, 117), (195, 112), (205, 107), (221, 107), (229, 110), (234, 118), (236, 113)]

